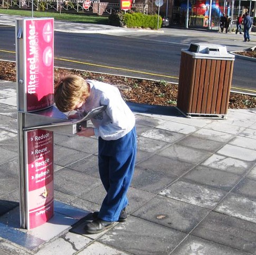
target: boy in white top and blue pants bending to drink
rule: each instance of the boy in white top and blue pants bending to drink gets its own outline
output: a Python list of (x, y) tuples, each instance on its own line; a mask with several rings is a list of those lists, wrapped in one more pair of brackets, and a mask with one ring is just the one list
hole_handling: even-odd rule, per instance
[[(98, 168), (107, 194), (99, 211), (86, 222), (87, 234), (100, 233), (115, 221), (125, 221), (127, 191), (136, 159), (135, 116), (116, 86), (77, 75), (64, 76), (54, 88), (56, 107), (62, 112), (89, 112), (101, 105), (106, 109), (91, 119), (93, 127), (82, 127), (79, 136), (98, 137)], [(76, 114), (71, 118), (77, 117)], [(86, 144), (84, 144), (86, 146)]]

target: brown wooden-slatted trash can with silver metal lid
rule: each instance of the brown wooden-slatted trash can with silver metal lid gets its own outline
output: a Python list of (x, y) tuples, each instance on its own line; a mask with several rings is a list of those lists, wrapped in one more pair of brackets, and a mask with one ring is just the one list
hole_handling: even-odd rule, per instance
[(191, 43), (182, 50), (177, 109), (186, 117), (226, 119), (233, 65), (223, 45)]

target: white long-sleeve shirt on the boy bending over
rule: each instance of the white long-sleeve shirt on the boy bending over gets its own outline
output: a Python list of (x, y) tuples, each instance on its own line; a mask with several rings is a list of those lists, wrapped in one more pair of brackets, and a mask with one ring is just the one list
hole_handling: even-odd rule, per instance
[(89, 112), (106, 105), (105, 111), (91, 119), (94, 134), (104, 140), (117, 140), (129, 133), (135, 125), (135, 116), (122, 99), (118, 88), (93, 80), (86, 82), (90, 84), (91, 91), (82, 109)]

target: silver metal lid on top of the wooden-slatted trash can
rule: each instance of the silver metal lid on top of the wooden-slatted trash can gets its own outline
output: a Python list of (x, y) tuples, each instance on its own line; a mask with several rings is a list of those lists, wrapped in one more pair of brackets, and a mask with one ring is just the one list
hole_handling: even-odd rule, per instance
[(226, 50), (226, 46), (211, 43), (191, 43), (187, 50), (182, 50), (194, 58), (230, 58), (234, 60), (234, 55)]

